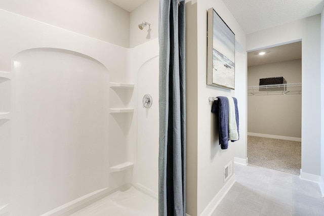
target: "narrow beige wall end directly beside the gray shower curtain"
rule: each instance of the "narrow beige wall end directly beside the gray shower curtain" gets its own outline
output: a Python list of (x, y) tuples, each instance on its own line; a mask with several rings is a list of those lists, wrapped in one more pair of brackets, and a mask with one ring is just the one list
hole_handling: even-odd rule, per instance
[(186, 200), (187, 213), (197, 215), (197, 4), (186, 3)]

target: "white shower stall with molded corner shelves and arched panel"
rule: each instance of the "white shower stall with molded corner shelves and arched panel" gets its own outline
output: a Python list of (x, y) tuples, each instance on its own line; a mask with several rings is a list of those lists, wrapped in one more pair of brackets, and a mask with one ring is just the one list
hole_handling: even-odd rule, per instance
[(138, 193), (157, 214), (157, 38), (127, 49), (0, 18), (11, 20), (0, 25), (0, 215), (69, 215)]

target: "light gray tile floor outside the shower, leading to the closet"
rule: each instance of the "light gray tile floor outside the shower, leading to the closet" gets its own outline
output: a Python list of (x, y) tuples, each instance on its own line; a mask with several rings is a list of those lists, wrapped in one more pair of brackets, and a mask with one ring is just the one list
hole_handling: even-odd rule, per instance
[(324, 215), (318, 184), (254, 165), (235, 164), (236, 183), (213, 216)]

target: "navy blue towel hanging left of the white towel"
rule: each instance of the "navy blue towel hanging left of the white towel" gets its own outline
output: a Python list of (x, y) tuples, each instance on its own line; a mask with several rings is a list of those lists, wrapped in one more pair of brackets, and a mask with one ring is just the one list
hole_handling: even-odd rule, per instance
[(218, 115), (219, 145), (221, 149), (228, 148), (228, 100), (226, 97), (217, 97), (212, 106), (212, 112)]

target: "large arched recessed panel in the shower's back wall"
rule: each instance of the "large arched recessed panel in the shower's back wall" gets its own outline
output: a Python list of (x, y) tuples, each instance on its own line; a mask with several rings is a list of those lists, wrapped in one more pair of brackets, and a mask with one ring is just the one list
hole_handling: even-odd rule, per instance
[(13, 62), (11, 214), (38, 215), (108, 188), (107, 68), (50, 48)]

